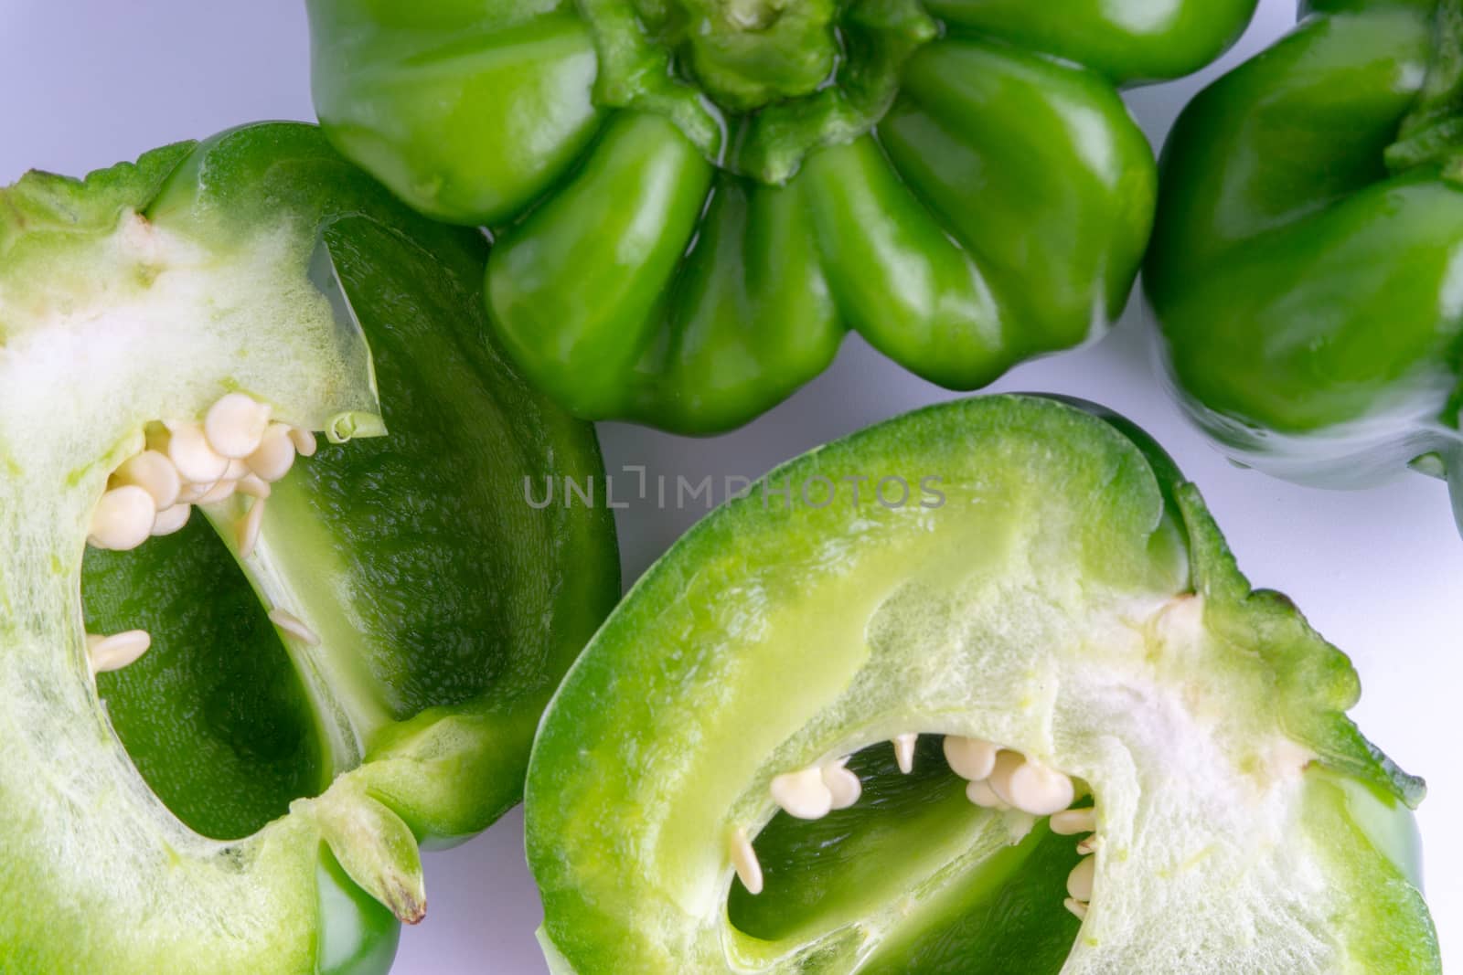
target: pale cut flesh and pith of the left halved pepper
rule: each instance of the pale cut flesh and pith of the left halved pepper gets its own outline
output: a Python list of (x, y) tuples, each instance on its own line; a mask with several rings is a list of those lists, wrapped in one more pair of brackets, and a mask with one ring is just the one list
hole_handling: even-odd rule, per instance
[[(78, 957), (231, 972), (249, 971), (250, 955), (236, 955), (247, 949), (310, 965), (316, 826), (285, 817), (219, 842), (157, 800), (97, 699), (79, 579), (108, 477), (151, 421), (196, 421), (247, 389), (296, 425), (380, 430), (364, 338), (304, 273), (313, 247), (313, 228), (215, 247), (129, 213), (42, 281), (0, 273), (0, 691), (12, 702), (0, 797), (26, 823), (0, 835), (0, 860), (12, 879), (34, 871), (38, 889), (67, 892), (47, 911), (79, 933)], [(164, 517), (154, 526), (181, 526), (186, 507), (151, 500)]]

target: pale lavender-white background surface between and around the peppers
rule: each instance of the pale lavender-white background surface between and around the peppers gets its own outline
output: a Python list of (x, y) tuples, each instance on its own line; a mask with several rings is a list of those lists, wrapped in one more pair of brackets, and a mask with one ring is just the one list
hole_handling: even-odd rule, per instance
[[(1219, 67), (1292, 22), (1289, 0), (1261, 16)], [(1141, 91), (1129, 104), (1156, 140), (1198, 79)], [(263, 118), (310, 118), (301, 0), (0, 0), (0, 184), (28, 167), (80, 174), (145, 149)], [(1055, 390), (1138, 421), (1197, 481), (1241, 567), (1287, 592), (1352, 655), (1365, 697), (1362, 729), (1404, 769), (1425, 775), (1419, 813), (1428, 892), (1444, 955), (1463, 972), (1463, 541), (1444, 487), (1421, 475), (1368, 493), (1324, 493), (1236, 469), (1179, 417), (1150, 363), (1134, 303), (1103, 342), (1017, 368), (995, 389)], [(745, 430), (685, 440), (603, 424), (606, 463), (693, 481), (755, 477), (832, 437), (949, 398), (850, 338), (835, 367)], [(620, 512), (632, 582), (698, 512)], [(541, 972), (533, 931), (538, 896), (524, 865), (522, 816), (426, 858), (430, 914), (405, 931), (396, 972)], [(3, 909), (16, 909), (4, 905)], [(44, 924), (44, 918), (35, 918)]]

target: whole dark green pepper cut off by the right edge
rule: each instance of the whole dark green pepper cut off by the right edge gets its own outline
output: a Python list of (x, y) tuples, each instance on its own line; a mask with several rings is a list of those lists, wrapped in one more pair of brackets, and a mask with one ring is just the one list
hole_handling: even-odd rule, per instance
[(1463, 525), (1463, 4), (1327, 0), (1184, 111), (1144, 281), (1179, 399), (1321, 487), (1413, 463)]

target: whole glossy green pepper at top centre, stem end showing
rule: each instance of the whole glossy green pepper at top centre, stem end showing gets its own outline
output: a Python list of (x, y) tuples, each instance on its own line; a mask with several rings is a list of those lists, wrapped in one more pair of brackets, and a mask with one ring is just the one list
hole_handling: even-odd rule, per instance
[(575, 415), (740, 425), (849, 330), (951, 389), (1100, 332), (1154, 164), (1122, 85), (1254, 0), (310, 0), (332, 143), (492, 228), (487, 304)]

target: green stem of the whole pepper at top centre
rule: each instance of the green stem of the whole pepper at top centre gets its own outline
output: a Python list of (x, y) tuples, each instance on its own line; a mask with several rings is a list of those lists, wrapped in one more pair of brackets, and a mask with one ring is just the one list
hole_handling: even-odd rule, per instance
[(578, 0), (600, 105), (670, 118), (715, 165), (781, 184), (872, 130), (914, 51), (920, 0)]

